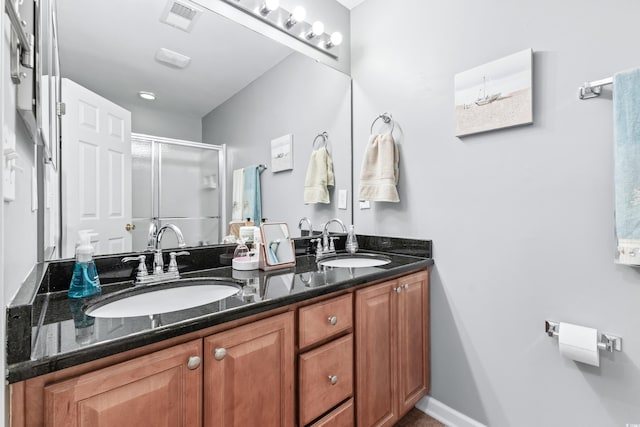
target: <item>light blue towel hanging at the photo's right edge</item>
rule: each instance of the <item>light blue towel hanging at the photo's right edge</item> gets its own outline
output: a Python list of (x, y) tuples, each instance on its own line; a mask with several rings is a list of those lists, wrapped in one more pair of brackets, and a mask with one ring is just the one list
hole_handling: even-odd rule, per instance
[(622, 259), (625, 245), (640, 240), (640, 69), (613, 77), (613, 127), (616, 234)]

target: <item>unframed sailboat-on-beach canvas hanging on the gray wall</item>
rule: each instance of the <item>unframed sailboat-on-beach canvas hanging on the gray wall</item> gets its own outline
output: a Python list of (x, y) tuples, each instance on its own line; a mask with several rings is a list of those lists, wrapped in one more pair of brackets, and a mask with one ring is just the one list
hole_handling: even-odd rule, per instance
[(455, 75), (456, 136), (533, 123), (533, 51)]

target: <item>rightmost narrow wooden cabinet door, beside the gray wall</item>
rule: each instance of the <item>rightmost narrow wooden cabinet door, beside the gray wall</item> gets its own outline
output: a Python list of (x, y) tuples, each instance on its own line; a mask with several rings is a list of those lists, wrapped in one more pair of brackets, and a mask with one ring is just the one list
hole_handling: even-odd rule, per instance
[(429, 387), (429, 279), (419, 273), (398, 281), (398, 393), (402, 417)]

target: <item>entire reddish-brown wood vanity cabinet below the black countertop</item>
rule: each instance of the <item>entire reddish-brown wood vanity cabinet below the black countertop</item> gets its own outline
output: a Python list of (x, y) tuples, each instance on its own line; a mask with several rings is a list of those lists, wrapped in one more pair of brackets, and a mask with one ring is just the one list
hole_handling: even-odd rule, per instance
[(287, 310), (12, 384), (11, 426), (390, 426), (427, 393), (428, 271)]

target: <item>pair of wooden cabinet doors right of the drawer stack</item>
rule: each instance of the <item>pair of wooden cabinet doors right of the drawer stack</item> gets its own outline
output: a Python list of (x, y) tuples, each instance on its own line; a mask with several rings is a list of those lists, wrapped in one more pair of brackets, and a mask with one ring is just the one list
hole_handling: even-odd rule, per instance
[(356, 292), (356, 419), (391, 426), (429, 387), (429, 276)]

